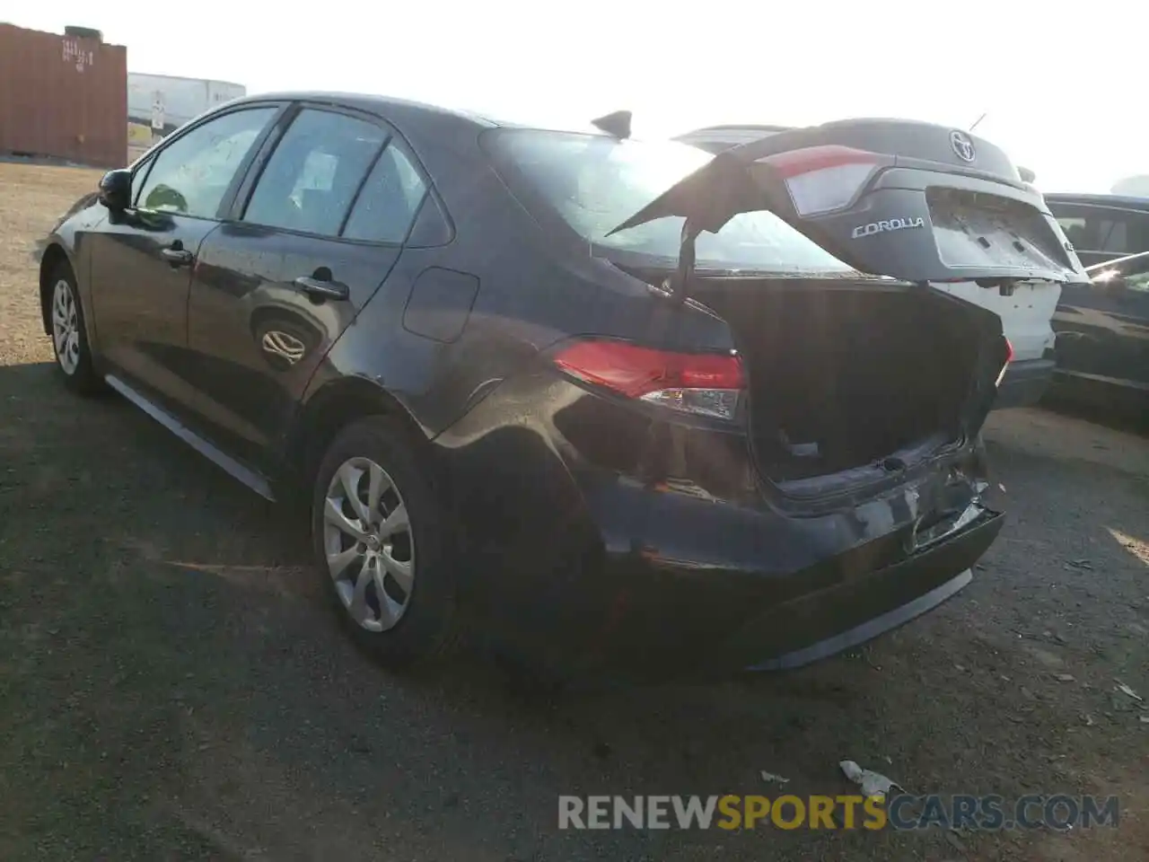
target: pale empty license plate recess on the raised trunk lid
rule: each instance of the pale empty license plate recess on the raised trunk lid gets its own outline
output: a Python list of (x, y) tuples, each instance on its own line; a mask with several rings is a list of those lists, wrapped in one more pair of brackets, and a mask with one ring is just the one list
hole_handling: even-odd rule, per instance
[[(947, 267), (1026, 272), (1059, 269), (1057, 239), (1033, 207), (955, 188), (927, 188), (938, 256)], [(1004, 275), (1004, 272), (1003, 272)]]

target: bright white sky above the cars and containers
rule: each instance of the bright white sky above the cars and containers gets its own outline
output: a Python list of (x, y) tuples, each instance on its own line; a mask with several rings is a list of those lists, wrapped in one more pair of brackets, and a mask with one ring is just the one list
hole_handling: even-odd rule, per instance
[(977, 132), (1043, 191), (1149, 174), (1136, 0), (0, 0), (0, 20), (94, 26), (128, 46), (130, 71), (249, 93), (373, 92), (557, 123), (629, 108), (637, 137), (986, 114)]

